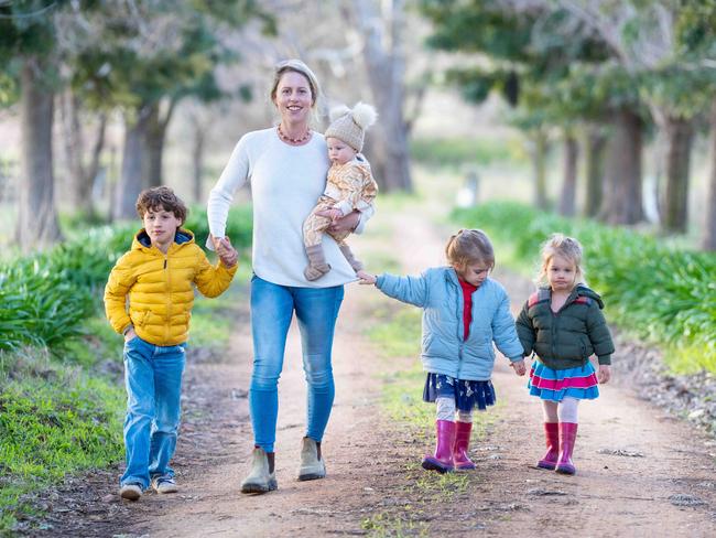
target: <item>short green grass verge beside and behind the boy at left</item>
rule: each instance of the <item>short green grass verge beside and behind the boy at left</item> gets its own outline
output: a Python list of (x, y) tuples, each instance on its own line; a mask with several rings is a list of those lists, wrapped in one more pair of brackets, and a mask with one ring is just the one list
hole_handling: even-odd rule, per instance
[[(225, 349), (242, 297), (236, 284), (217, 299), (197, 297), (191, 347)], [(52, 354), (0, 352), (0, 536), (41, 519), (33, 494), (123, 460), (122, 338), (104, 316), (87, 320), (83, 333)]]

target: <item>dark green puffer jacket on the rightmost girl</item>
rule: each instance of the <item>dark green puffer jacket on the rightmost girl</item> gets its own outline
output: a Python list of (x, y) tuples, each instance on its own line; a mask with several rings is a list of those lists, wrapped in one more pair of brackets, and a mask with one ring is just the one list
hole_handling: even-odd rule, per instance
[(551, 304), (552, 290), (540, 288), (520, 312), (517, 333), (525, 356), (534, 351), (553, 369), (582, 366), (594, 354), (599, 364), (611, 364), (614, 343), (596, 292), (579, 284), (558, 312)]

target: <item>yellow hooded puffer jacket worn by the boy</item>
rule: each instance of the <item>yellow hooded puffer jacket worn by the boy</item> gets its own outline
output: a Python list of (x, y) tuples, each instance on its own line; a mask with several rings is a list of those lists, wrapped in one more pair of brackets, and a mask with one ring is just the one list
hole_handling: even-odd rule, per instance
[(188, 338), (194, 305), (192, 283), (204, 295), (217, 297), (229, 287), (237, 267), (227, 268), (221, 262), (211, 266), (188, 230), (178, 229), (163, 254), (151, 246), (142, 229), (109, 275), (105, 287), (107, 319), (120, 334), (133, 325), (137, 335), (151, 344), (182, 344)]

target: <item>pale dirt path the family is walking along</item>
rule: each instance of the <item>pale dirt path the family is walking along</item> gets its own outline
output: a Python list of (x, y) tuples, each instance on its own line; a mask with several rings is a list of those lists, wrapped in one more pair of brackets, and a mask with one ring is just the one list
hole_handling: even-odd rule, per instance
[[(371, 226), (400, 237), (390, 251), (404, 270), (440, 263), (445, 232), (419, 218), (400, 218), (400, 229), (397, 218), (381, 214)], [(384, 249), (384, 239), (381, 244)], [(358, 251), (380, 247), (370, 234), (356, 245)], [(518, 309), (529, 283), (506, 273), (497, 278)], [(120, 503), (113, 494), (116, 476), (106, 473), (84, 484), (91, 502), (52, 514), (54, 528), (46, 536), (716, 536), (713, 441), (630, 396), (622, 380), (626, 386), (603, 387), (601, 398), (581, 407), (578, 474), (536, 470), (543, 451), (540, 405), (528, 397), (525, 378), (516, 377), (503, 359), (493, 378), (502, 405), (490, 409), (496, 420), (474, 443), (477, 470), (458, 486), (430, 476), (434, 493), (426, 493), (424, 484), (415, 487), (425, 478), (417, 462), (428, 446), (380, 413), (377, 376), (414, 358), (381, 361), (364, 334), (371, 312), (390, 305), (394, 302), (376, 290), (347, 287), (334, 348), (336, 404), (324, 440), (325, 480), (295, 481), (305, 381), (294, 326), (280, 383), (279, 489), (262, 496), (239, 493), (251, 450), (245, 305), (231, 352), (221, 362), (188, 366), (175, 459), (182, 492)]]

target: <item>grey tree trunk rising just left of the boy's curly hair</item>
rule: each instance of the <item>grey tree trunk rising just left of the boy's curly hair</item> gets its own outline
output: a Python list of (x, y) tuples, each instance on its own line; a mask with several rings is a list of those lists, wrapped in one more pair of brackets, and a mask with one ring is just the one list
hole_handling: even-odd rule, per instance
[(144, 172), (148, 159), (144, 151), (147, 126), (150, 119), (150, 107), (142, 107), (137, 117), (124, 118), (124, 149), (122, 153), (122, 170), (116, 185), (112, 206), (113, 219), (128, 219), (137, 216), (137, 196), (145, 187)]

